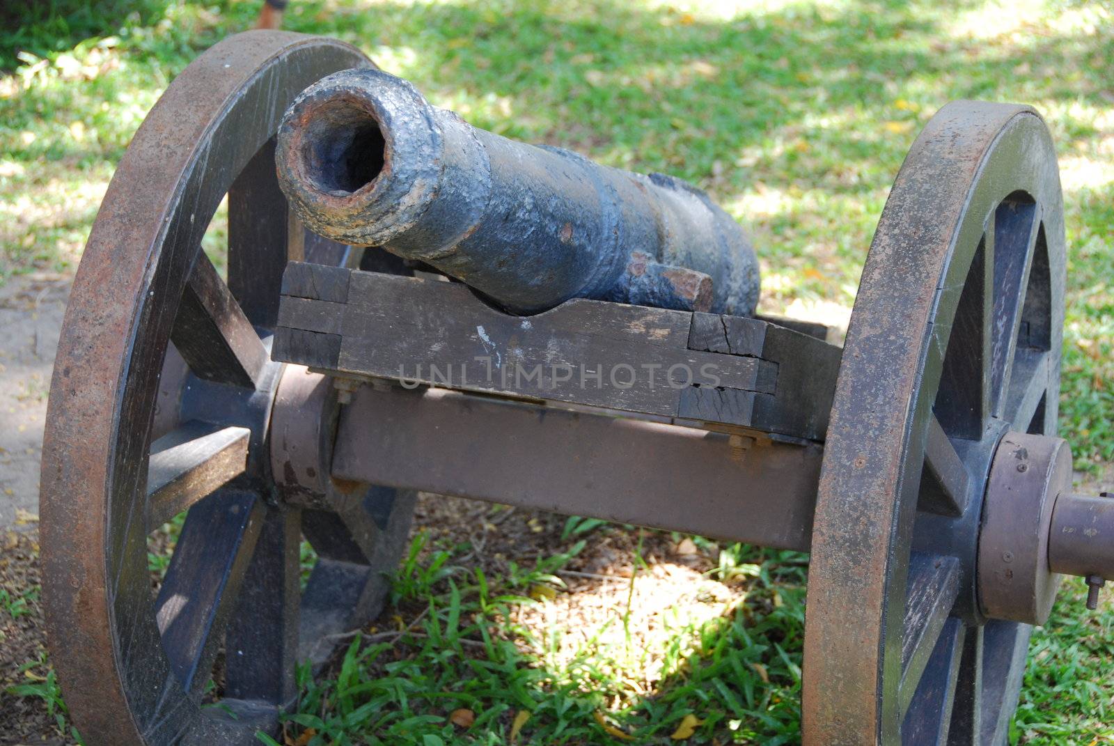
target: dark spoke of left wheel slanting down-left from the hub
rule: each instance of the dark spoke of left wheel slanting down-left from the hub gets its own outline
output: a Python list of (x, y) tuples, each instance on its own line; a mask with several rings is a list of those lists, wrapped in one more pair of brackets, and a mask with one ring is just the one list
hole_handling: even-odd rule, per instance
[(262, 522), (254, 493), (222, 490), (189, 511), (155, 602), (170, 669), (187, 691), (208, 678)]

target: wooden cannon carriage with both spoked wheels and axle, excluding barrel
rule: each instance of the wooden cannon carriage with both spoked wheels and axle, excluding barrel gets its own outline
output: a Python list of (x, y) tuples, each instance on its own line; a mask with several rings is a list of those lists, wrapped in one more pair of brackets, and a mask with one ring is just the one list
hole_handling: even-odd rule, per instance
[[(1114, 578), (1114, 502), (1073, 494), (1056, 437), (1066, 261), (1037, 113), (957, 101), (928, 123), (840, 347), (747, 302), (633, 304), (578, 280), (517, 294), (529, 232), (510, 253), (441, 244), (509, 262), (498, 282), (446, 268), (452, 282), (389, 238), (307, 231), (276, 134), (303, 90), (354, 68), (372, 65), (329, 39), (217, 43), (106, 193), (55, 366), (40, 511), (50, 653), (86, 743), (275, 730), (295, 665), (382, 608), (416, 491), (807, 550), (803, 743), (1005, 743), (1063, 575), (1092, 602)], [(364, 175), (340, 198), (373, 192), (382, 172)], [(225, 194), (222, 278), (199, 244)], [(519, 227), (553, 248), (564, 223), (538, 210)], [(574, 235), (600, 225), (579, 217)], [(609, 246), (561, 262), (628, 259)], [(746, 287), (658, 249), (639, 250), (716, 292)], [(147, 537), (183, 512), (153, 594)], [(304, 589), (303, 537), (320, 555)], [(203, 706), (222, 646), (221, 706)]]

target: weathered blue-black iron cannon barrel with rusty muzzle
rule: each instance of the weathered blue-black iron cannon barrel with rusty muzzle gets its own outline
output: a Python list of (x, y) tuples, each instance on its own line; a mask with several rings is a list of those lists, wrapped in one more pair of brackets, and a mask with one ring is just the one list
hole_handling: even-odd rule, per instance
[(758, 261), (704, 192), (472, 127), (356, 68), (278, 129), (278, 181), (311, 230), (437, 268), (514, 312), (593, 298), (750, 314)]

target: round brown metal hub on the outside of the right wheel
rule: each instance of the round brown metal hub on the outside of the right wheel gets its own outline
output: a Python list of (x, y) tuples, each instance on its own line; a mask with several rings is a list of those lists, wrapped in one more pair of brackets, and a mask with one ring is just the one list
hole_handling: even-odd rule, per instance
[(1006, 433), (994, 456), (983, 505), (978, 598), (991, 619), (1043, 624), (1062, 577), (1048, 562), (1053, 508), (1072, 488), (1072, 449), (1063, 438)]

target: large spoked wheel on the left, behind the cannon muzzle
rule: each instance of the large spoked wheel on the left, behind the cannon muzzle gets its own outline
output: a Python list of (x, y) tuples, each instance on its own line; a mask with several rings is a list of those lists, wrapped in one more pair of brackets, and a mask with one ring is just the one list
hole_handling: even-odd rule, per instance
[[(332, 40), (229, 38), (174, 80), (109, 186), (42, 458), (50, 653), (86, 743), (258, 743), (296, 694), (296, 661), (382, 604), (413, 496), (330, 484), (335, 396), (267, 352), (287, 259), (345, 251), (287, 219), (272, 138), (307, 85), (368, 65)], [(225, 193), (227, 282), (201, 250)], [(184, 511), (155, 590), (148, 536)], [(304, 591), (303, 536), (320, 555)]]

